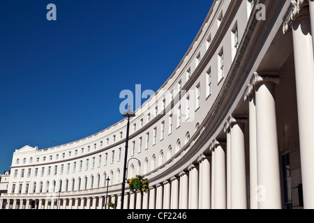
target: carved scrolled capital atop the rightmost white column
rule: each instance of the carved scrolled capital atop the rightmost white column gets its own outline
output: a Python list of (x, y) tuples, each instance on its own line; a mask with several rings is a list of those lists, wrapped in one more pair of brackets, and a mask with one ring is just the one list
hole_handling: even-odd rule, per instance
[(287, 33), (290, 29), (292, 29), (293, 21), (301, 15), (301, 9), (305, 6), (308, 6), (309, 0), (293, 0), (291, 1), (292, 6), (290, 6), (289, 10), (286, 14), (285, 22), (283, 22), (283, 34)]

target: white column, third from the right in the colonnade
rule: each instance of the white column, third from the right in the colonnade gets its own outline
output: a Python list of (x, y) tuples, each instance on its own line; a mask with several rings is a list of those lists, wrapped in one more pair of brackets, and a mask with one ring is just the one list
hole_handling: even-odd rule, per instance
[(230, 123), (231, 147), (231, 208), (246, 209), (246, 151), (244, 140), (244, 124), (246, 118), (228, 118)]

